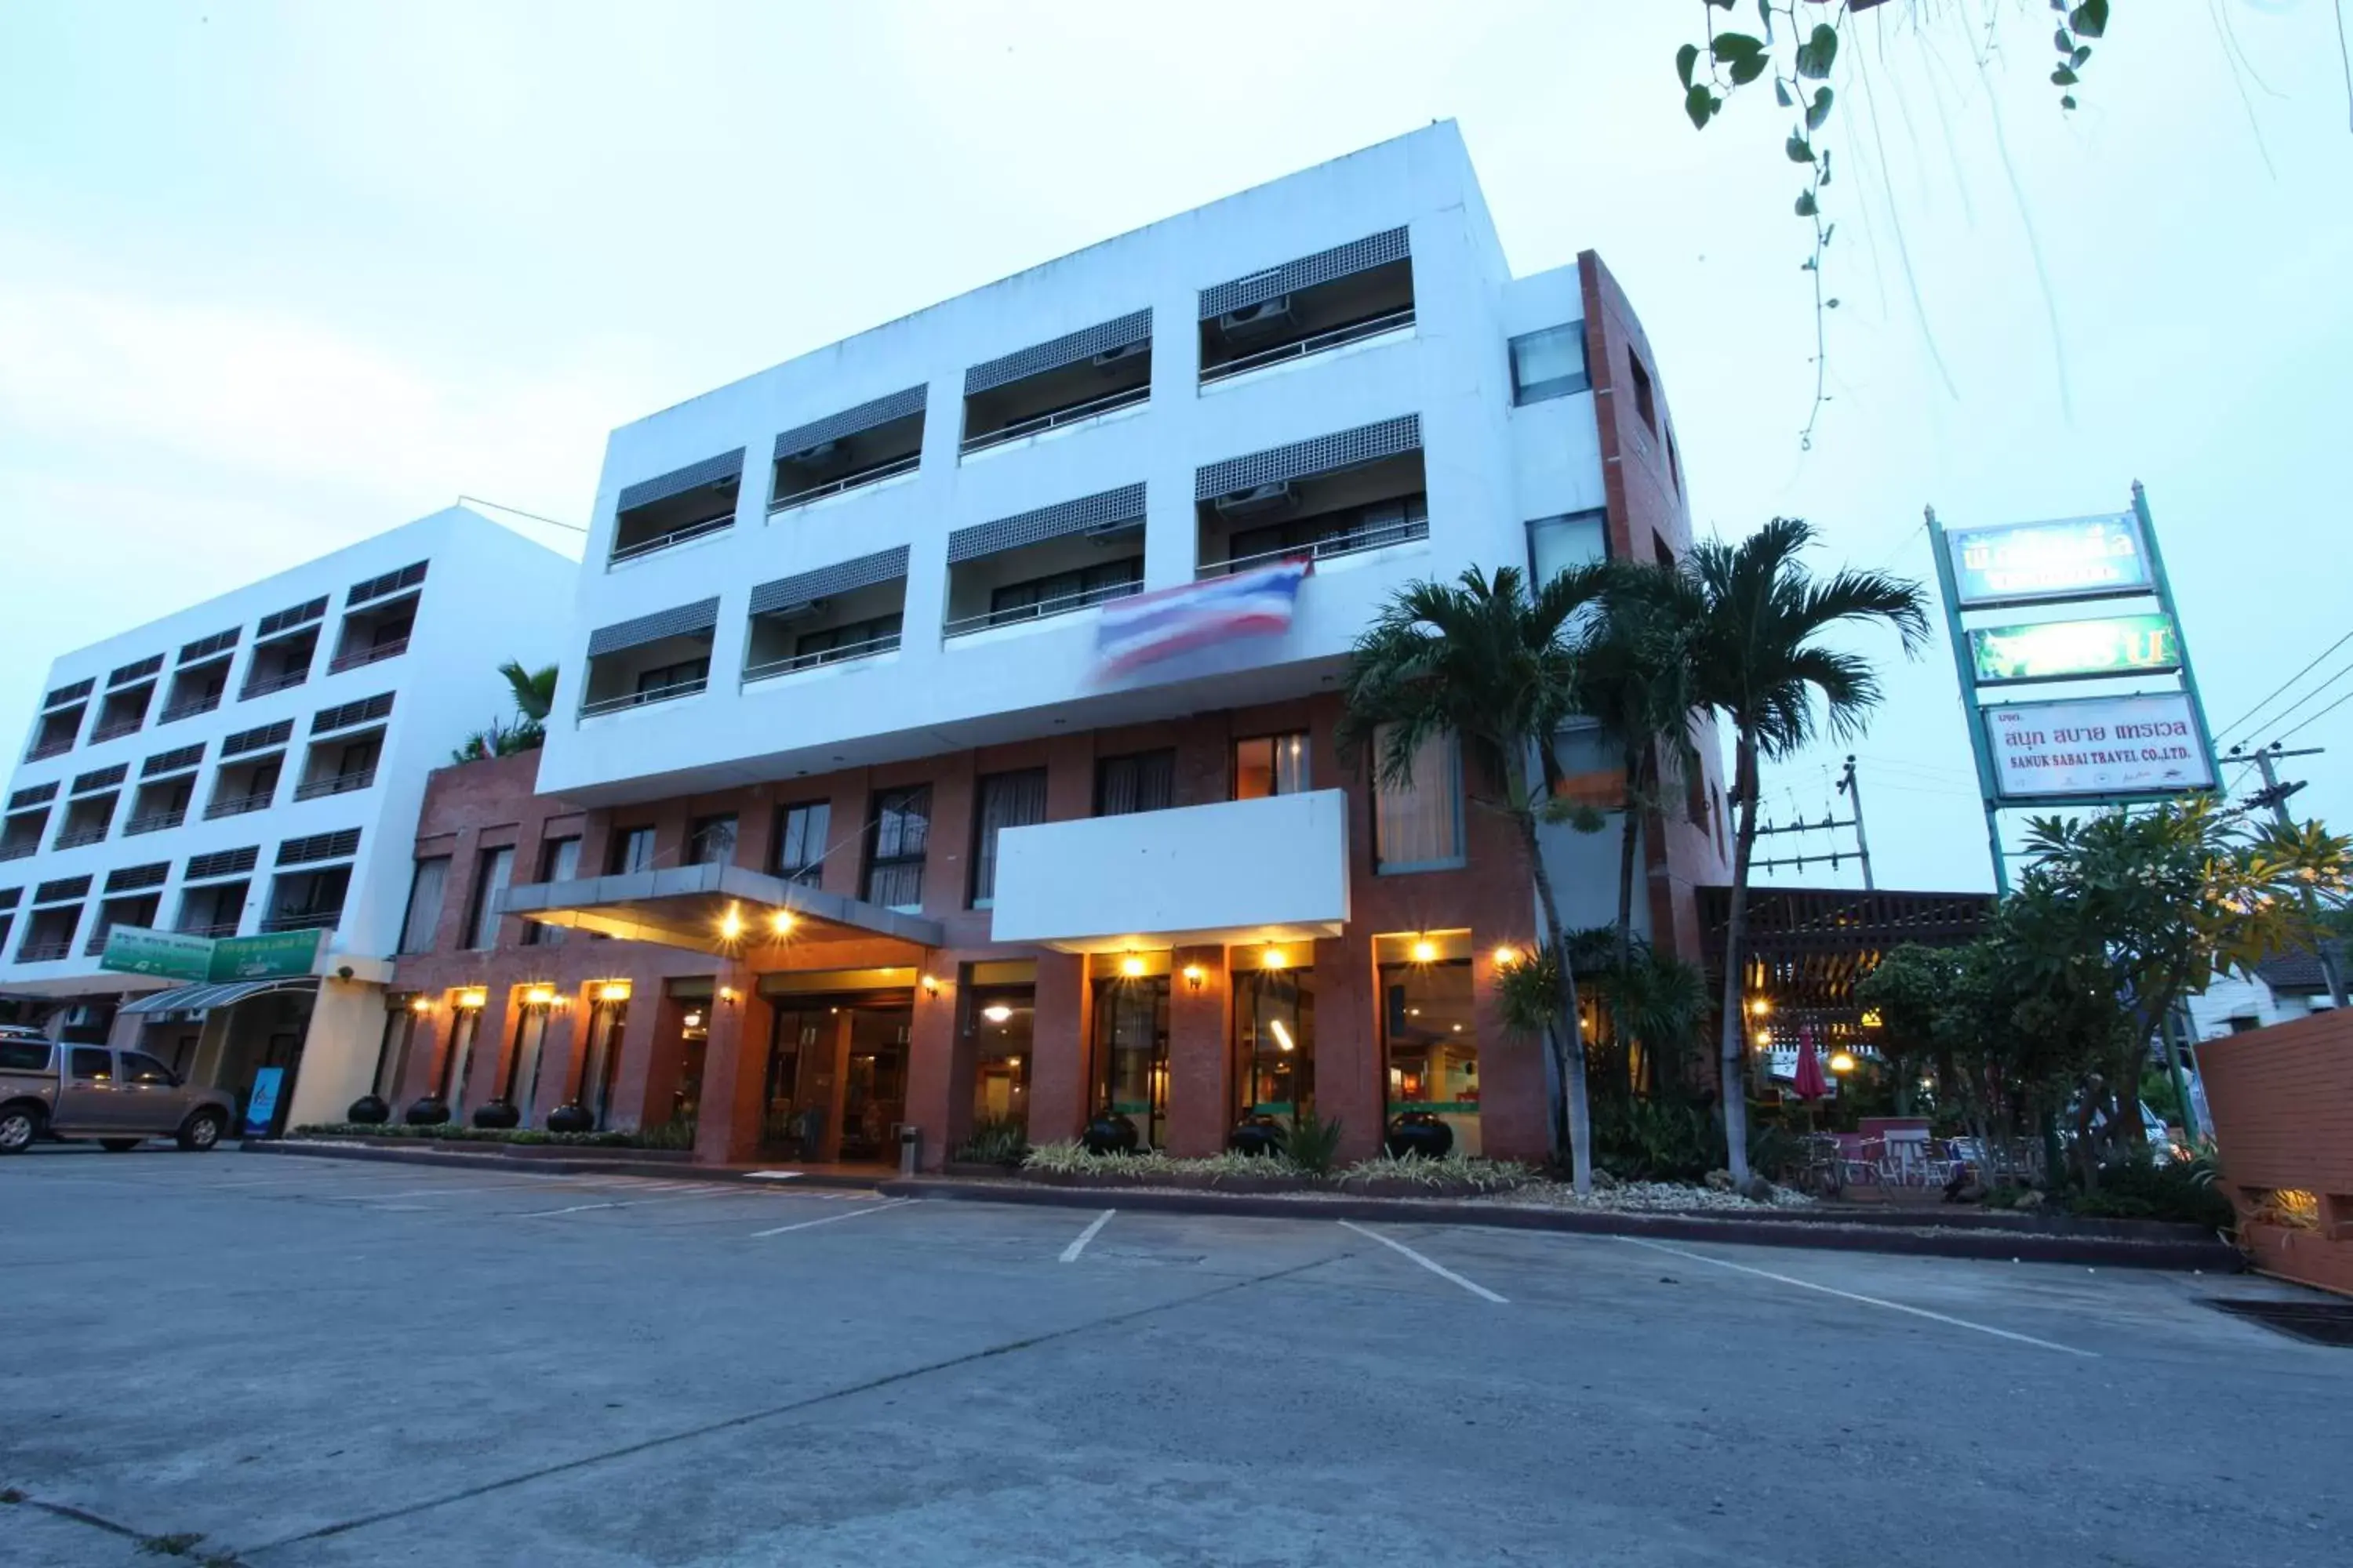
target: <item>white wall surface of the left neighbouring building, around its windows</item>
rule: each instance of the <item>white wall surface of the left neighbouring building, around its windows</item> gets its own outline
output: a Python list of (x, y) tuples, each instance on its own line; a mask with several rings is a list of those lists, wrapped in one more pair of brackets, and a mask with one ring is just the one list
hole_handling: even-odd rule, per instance
[[(416, 581), (407, 581), (412, 576)], [(108, 879), (139, 884), (125, 896), (155, 896), (151, 919), (125, 924), (188, 929), (207, 922), (186, 914), (186, 896), (214, 886), (191, 884), (191, 863), (205, 870), (207, 856), (242, 858), (247, 849), (254, 851), (252, 870), (216, 879), (242, 879), (242, 903), (221, 900), (198, 912), (216, 917), (209, 933), (327, 926), (320, 971), (334, 976), (348, 966), (355, 980), (381, 983), (400, 940), (426, 771), (449, 762), (452, 748), (471, 731), (513, 715), (499, 663), (520, 658), (536, 668), (555, 658), (569, 614), (569, 578), (572, 562), (565, 557), (478, 512), (449, 508), (61, 656), (49, 665), (49, 701), (26, 741), (28, 759), (9, 780), (14, 846), (31, 842), (33, 849), (0, 858), (0, 905), (12, 905), (0, 910), (0, 994), (106, 997), (158, 987), (158, 980), (101, 971), (89, 950), (101, 945)], [(355, 595), (360, 602), (353, 602)], [(306, 632), (315, 642), (308, 658), (285, 658), (287, 644), (299, 654)], [(221, 654), (207, 651), (207, 644), (231, 635), (226, 684), (205, 708), (205, 684), (181, 675), (209, 675)], [(184, 658), (186, 651), (193, 656)], [(148, 684), (144, 705), (115, 703), (115, 724), (106, 726), (115, 677), (151, 661), (153, 675), (115, 686), (134, 693)], [(299, 679), (289, 665), (304, 670)], [(87, 698), (56, 703), (59, 693), (82, 682), (92, 686)], [(188, 712), (165, 719), (174, 693)], [(391, 705), (376, 712), (381, 698)], [(42, 745), (45, 729), (66, 733), (68, 722), (49, 715), (68, 715), (75, 703), (73, 743), (52, 752)], [(129, 724), (134, 705), (139, 715)], [(339, 717), (351, 722), (336, 724)], [(285, 738), (268, 738), (280, 726)], [(101, 729), (122, 733), (99, 738)], [(245, 750), (224, 757), (233, 738), (242, 738)], [(151, 759), (169, 762), (186, 750), (198, 750), (193, 766), (151, 771)], [(249, 788), (254, 759), (268, 757), (278, 759), (268, 769), (275, 773), (268, 790)], [(353, 766), (339, 771), (346, 762)], [(106, 778), (113, 769), (125, 771), (120, 785), (85, 795), (85, 802), (111, 797), (104, 809), (78, 809), (75, 780)], [(176, 780), (191, 788), (174, 813)], [(52, 799), (31, 799), (49, 790)], [(266, 802), (259, 799), (264, 795)], [(249, 809), (221, 811), (231, 804)], [(101, 823), (104, 832), (89, 825), (68, 832), (61, 846), (68, 820)], [(322, 853), (339, 849), (332, 835), (348, 837), (353, 830), (358, 844), (351, 851)], [(78, 842), (85, 837), (89, 842)], [(306, 839), (308, 846), (301, 844)], [(296, 856), (308, 849), (315, 858), (280, 865), (287, 844), (296, 844)], [(155, 867), (162, 867), (160, 877)], [(287, 914), (285, 903), (273, 903), (278, 891), (296, 891), (294, 884), (278, 889), (280, 875), (334, 867), (348, 867), (339, 912)], [(87, 891), (54, 896), (82, 879)], [(45, 889), (49, 900), (42, 900)], [(68, 907), (71, 926), (56, 914)], [(54, 952), (59, 929), (64, 952)], [(49, 952), (54, 957), (42, 957)]]

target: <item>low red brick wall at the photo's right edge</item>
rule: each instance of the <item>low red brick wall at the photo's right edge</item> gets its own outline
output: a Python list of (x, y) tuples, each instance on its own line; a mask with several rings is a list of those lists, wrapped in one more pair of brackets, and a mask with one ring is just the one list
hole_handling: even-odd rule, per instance
[(2320, 1229), (2242, 1227), (2257, 1267), (2353, 1295), (2353, 1013), (2209, 1039), (2198, 1067), (2240, 1218), (2268, 1192), (2320, 1199)]

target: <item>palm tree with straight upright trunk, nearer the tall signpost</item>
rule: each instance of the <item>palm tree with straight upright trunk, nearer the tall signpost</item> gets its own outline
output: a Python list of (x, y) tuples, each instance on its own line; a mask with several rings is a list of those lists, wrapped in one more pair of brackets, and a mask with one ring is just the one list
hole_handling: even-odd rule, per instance
[(1758, 764), (1805, 750), (1817, 736), (1857, 736), (1878, 705), (1880, 679), (1871, 661), (1826, 646), (1824, 632), (1842, 623), (1889, 625), (1906, 658), (1927, 642), (1927, 602), (1918, 583), (1854, 569), (1817, 578), (1798, 559), (1812, 543), (1814, 529), (1805, 520), (1774, 517), (1737, 545), (1694, 545), (1682, 564), (1704, 607), (1692, 639), (1694, 689), (1734, 733), (1732, 799), (1739, 818), (1725, 919), (1722, 1098), (1727, 1164), (1741, 1185), (1748, 1182), (1741, 945), (1748, 933), (1748, 860), (1758, 839)]

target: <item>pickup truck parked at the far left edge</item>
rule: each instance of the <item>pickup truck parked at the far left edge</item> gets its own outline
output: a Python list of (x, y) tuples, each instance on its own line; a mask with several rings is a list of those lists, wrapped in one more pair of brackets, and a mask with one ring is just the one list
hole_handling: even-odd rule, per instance
[(202, 1154), (221, 1143), (233, 1110), (228, 1093), (191, 1088), (146, 1051), (0, 1027), (0, 1154), (24, 1154), (40, 1138), (94, 1138), (113, 1152), (176, 1138)]

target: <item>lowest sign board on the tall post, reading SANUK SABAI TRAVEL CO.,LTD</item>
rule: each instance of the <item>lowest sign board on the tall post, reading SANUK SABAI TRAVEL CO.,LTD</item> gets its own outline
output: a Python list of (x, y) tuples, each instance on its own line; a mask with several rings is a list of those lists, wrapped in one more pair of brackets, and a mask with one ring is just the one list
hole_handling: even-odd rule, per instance
[(2186, 691), (2007, 703), (1979, 719), (2005, 802), (2214, 788)]

